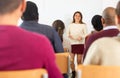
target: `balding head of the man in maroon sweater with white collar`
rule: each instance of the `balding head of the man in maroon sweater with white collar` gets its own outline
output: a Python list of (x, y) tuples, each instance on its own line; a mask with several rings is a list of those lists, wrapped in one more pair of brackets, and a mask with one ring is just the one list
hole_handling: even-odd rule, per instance
[(104, 23), (106, 25), (115, 25), (115, 16), (116, 16), (116, 12), (115, 12), (115, 8), (113, 7), (107, 7), (104, 9), (102, 17), (104, 19)]

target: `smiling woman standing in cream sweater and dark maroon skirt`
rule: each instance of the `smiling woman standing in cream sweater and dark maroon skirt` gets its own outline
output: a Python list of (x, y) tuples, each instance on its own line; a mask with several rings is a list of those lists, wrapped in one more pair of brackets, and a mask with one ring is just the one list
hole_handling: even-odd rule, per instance
[(71, 43), (71, 68), (72, 68), (72, 78), (75, 78), (75, 65), (74, 57), (77, 54), (77, 63), (81, 64), (81, 59), (84, 50), (85, 36), (87, 35), (86, 24), (82, 21), (82, 13), (76, 11), (73, 15), (73, 22), (68, 26), (67, 36)]

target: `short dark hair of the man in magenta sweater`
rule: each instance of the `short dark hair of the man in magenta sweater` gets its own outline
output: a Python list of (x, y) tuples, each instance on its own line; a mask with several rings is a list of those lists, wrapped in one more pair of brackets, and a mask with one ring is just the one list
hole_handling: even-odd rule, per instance
[(22, 0), (0, 0), (0, 14), (14, 11), (20, 5)]

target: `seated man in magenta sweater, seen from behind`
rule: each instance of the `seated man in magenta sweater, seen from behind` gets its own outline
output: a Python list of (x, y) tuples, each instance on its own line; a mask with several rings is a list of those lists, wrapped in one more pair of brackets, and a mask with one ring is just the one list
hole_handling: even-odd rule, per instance
[(0, 70), (45, 68), (49, 78), (63, 78), (49, 40), (17, 26), (25, 0), (1, 0), (0, 4)]

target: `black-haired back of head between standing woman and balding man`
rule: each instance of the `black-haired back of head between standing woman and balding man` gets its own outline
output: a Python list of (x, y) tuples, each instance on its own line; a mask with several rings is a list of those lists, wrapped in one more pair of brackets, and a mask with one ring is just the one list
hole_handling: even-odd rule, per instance
[(103, 29), (103, 25), (102, 25), (102, 21), (101, 21), (101, 18), (102, 16), (100, 15), (95, 15), (93, 16), (92, 20), (91, 20), (91, 23), (93, 25), (93, 28), (96, 30), (96, 31), (100, 31)]

